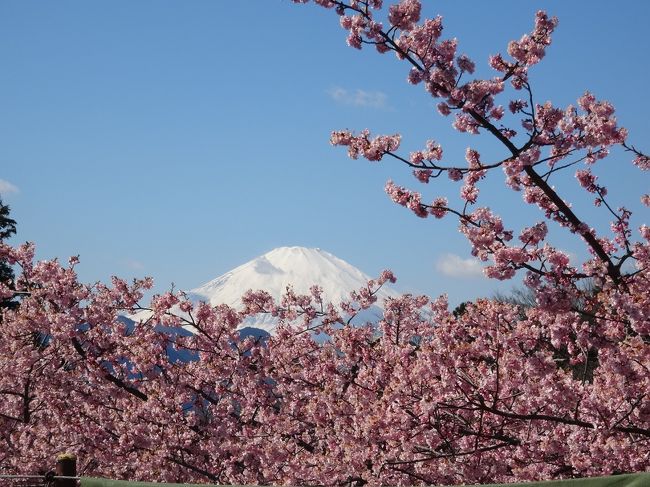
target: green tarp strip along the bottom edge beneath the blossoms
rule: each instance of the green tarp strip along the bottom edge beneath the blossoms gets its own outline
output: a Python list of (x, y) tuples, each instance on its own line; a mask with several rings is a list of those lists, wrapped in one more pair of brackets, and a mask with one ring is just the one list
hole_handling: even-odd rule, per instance
[[(188, 487), (199, 484), (162, 484), (156, 482), (129, 482), (126, 480), (92, 479), (82, 477), (81, 487)], [(650, 473), (613, 475), (586, 479), (550, 480), (521, 484), (490, 484), (482, 487), (650, 487)], [(201, 487), (207, 487), (201, 484)], [(231, 486), (237, 487), (237, 486)]]

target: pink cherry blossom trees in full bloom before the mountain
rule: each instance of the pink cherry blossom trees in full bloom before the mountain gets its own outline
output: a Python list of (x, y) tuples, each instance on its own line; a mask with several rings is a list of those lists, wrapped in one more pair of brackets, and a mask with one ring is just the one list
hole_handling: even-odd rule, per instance
[[(20, 270), (23, 294), (0, 329), (0, 470), (34, 471), (61, 450), (76, 452), (86, 474), (238, 484), (647, 470), (650, 228), (633, 229), (631, 212), (610, 205), (594, 168), (616, 146), (641, 170), (650, 159), (627, 141), (608, 102), (589, 93), (564, 108), (535, 101), (529, 70), (557, 20), (539, 12), (530, 34), (490, 58), (494, 78), (468, 79), (474, 62), (442, 39), (441, 18), (421, 21), (417, 0), (391, 5), (384, 23), (380, 0), (314, 3), (339, 15), (352, 47), (395, 53), (455, 129), (494, 139), (504, 156), (487, 161), (469, 148), (465, 165), (448, 165), (434, 141), (405, 156), (399, 135), (368, 131), (336, 131), (331, 142), (352, 158), (397, 159), (420, 183), (458, 181), (456, 206), (392, 182), (386, 190), (419, 217), (457, 218), (487, 275), (523, 273), (535, 306), (477, 300), (452, 313), (444, 296), (405, 295), (385, 303), (378, 324), (351, 326), (394, 280), (386, 271), (340, 306), (317, 287), (305, 296), (288, 289), (279, 302), (250, 291), (240, 310), (170, 292), (131, 326), (120, 314), (142, 309), (150, 280), (84, 285), (77, 259), (34, 263), (33, 246), (2, 244), (0, 259)], [(575, 168), (611, 233), (598, 234), (554, 189), (553, 179)], [(478, 184), (499, 169), (507, 189), (540, 210), (516, 238), (478, 206)], [(589, 259), (571, 264), (547, 241), (549, 225), (582, 239)], [(0, 287), (0, 298), (14, 293)], [(276, 335), (240, 336), (238, 326), (259, 313), (279, 318)]]

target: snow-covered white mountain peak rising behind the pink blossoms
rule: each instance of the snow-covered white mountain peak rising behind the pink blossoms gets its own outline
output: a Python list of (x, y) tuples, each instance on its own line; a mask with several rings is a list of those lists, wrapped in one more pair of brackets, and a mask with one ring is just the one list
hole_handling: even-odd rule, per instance
[[(376, 276), (375, 276), (376, 277)], [(323, 289), (323, 301), (338, 304), (349, 299), (351, 291), (364, 287), (370, 277), (342, 259), (318, 248), (279, 247), (230, 272), (188, 291), (193, 302), (205, 301), (215, 306), (227, 304), (241, 307), (241, 296), (249, 289), (264, 290), (279, 299), (291, 286), (297, 294), (309, 294), (313, 285)], [(376, 321), (388, 297), (398, 293), (384, 285), (377, 293), (377, 302), (360, 313), (355, 322)], [(142, 319), (138, 313), (132, 318)], [(242, 327), (258, 328), (273, 333), (277, 319), (269, 315), (250, 317)]]

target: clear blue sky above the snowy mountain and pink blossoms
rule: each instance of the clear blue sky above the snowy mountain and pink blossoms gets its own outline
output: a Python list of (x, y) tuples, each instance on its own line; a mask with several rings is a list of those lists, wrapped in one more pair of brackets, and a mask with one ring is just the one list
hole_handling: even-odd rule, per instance
[[(488, 55), (530, 31), (538, 8), (557, 15), (531, 71), (537, 101), (564, 106), (589, 89), (650, 150), (649, 2), (424, 3), (484, 76)], [(191, 288), (304, 245), (369, 274), (391, 268), (402, 289), (453, 302), (512, 287), (471, 266), (459, 275), (469, 246), (453, 220), (420, 220), (388, 200), (387, 179), (418, 185), (406, 168), (351, 161), (328, 144), (331, 130), (369, 128), (401, 132), (405, 154), (428, 138), (447, 161), (463, 161), (469, 145), (503, 154), (487, 137), (455, 133), (394, 56), (347, 47), (333, 12), (288, 0), (4, 0), (0, 59), (0, 192), (18, 221), (13, 241), (36, 242), (40, 258), (79, 254), (85, 281), (150, 275), (159, 291)], [(630, 159), (616, 154), (600, 174), (638, 223), (649, 188)], [(518, 229), (536, 213), (501, 176), (482, 186), (482, 203)], [(556, 184), (602, 227), (572, 179)], [(421, 188), (425, 199), (459, 189), (436, 186)], [(582, 255), (574, 237), (553, 234)]]

